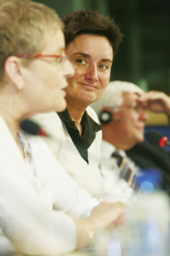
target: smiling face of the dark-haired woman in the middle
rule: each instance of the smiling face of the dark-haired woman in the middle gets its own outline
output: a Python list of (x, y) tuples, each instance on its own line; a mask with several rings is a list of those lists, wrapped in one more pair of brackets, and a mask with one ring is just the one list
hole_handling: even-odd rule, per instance
[(104, 92), (110, 78), (113, 49), (105, 36), (82, 34), (66, 48), (75, 74), (67, 79), (67, 103), (87, 106)]

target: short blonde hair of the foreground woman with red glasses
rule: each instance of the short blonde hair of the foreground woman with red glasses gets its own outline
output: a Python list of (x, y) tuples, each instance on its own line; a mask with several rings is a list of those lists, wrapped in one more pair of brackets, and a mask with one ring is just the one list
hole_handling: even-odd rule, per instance
[(35, 54), (43, 49), (46, 29), (63, 28), (57, 13), (30, 0), (0, 0), (0, 80), (10, 55)]

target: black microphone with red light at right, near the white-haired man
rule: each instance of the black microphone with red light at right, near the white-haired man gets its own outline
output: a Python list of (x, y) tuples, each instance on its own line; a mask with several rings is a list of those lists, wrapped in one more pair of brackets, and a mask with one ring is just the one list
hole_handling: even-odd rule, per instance
[(147, 132), (146, 139), (149, 142), (160, 145), (162, 147), (170, 146), (170, 140), (168, 140), (168, 137), (164, 136), (163, 133), (157, 130), (149, 130)]

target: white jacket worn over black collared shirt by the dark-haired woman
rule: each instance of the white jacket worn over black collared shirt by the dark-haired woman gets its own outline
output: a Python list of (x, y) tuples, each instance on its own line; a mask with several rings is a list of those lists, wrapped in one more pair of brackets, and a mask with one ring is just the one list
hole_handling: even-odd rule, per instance
[[(90, 106), (86, 111), (95, 122), (99, 123), (96, 112)], [(102, 198), (103, 176), (100, 164), (102, 130), (96, 132), (96, 137), (88, 148), (88, 164), (81, 157), (65, 124), (56, 112), (37, 114), (32, 119), (50, 134), (51, 138), (44, 137), (45, 142), (79, 186), (85, 188), (92, 196)]]

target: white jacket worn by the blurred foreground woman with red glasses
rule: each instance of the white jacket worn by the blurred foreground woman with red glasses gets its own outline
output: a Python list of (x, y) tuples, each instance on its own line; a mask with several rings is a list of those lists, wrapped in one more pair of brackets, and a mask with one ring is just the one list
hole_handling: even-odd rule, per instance
[(27, 140), (35, 168), (25, 163), (0, 117), (0, 226), (16, 250), (25, 254), (50, 256), (74, 250), (74, 221), (53, 208), (87, 217), (99, 202), (73, 181), (41, 138)]

